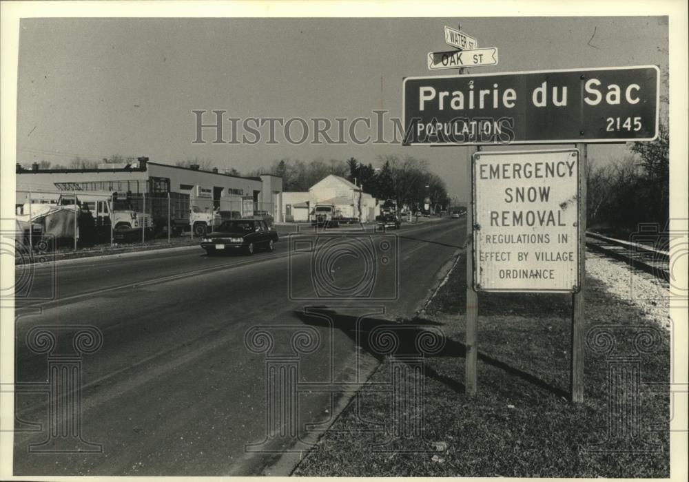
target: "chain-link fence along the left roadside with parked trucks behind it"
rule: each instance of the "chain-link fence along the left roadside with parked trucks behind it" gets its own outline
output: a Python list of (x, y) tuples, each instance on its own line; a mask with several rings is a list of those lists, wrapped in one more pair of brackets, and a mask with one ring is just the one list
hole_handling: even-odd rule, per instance
[[(109, 242), (151, 242), (191, 231), (191, 237), (225, 220), (261, 218), (273, 223), (273, 205), (245, 200), (202, 200), (190, 205), (182, 193), (107, 191), (28, 191), (17, 189), (17, 241), (35, 247), (50, 239), (51, 248)], [(200, 229), (203, 227), (203, 229)], [(45, 239), (43, 239), (45, 238)]]

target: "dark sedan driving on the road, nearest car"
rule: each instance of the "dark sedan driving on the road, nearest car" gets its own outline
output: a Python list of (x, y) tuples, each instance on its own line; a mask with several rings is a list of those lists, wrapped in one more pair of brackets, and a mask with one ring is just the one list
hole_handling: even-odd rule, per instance
[(208, 233), (201, 247), (210, 255), (243, 251), (247, 255), (258, 249), (273, 251), (278, 242), (278, 232), (268, 227), (263, 220), (235, 219), (224, 221), (212, 233)]

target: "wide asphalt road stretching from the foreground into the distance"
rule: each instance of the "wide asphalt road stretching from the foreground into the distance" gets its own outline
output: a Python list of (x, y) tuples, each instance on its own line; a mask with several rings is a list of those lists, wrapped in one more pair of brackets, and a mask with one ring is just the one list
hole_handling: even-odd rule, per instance
[[(14, 474), (284, 474), (280, 454), (307, 444), (279, 423), (285, 412), (267, 411), (269, 368), (292, 366), (276, 380), (305, 384), (280, 405), (298, 434), (327, 428), (342, 404), (332, 387), (363, 382), (380, 359), (362, 349), (356, 326), (413, 317), (465, 231), (463, 219), (388, 233), (307, 230), (251, 257), (199, 248), (37, 266), (30, 293), (41, 300), (17, 303), (32, 307), (17, 308)], [(84, 326), (102, 346), (69, 358)], [(245, 339), (256, 326), (267, 338)], [(54, 348), (37, 353), (48, 338), (28, 346), (27, 337), (46, 331)], [(66, 398), (48, 395), (51, 387)], [(50, 432), (55, 400), (52, 420), (72, 425)], [(65, 406), (79, 416), (65, 416)], [(315, 425), (305, 432), (305, 423)]]

